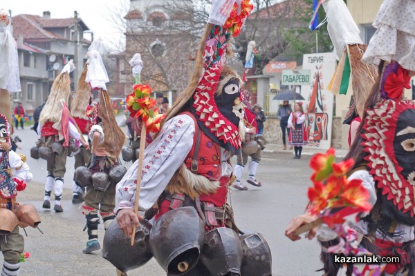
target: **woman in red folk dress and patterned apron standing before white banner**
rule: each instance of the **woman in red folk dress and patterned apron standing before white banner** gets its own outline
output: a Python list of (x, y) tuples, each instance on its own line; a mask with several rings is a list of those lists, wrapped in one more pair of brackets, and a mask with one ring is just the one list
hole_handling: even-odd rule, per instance
[(301, 158), (302, 147), (307, 144), (305, 120), (306, 115), (304, 114), (302, 103), (295, 103), (294, 112), (291, 112), (290, 117), (288, 117), (288, 128), (290, 128), (288, 145), (294, 146), (294, 159)]

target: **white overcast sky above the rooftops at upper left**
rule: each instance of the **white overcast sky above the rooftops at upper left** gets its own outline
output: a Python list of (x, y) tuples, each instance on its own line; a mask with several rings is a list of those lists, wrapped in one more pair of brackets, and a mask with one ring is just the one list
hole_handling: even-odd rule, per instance
[[(129, 0), (3, 0), (0, 8), (12, 10), (17, 14), (34, 14), (42, 17), (43, 12), (50, 11), (51, 18), (73, 17), (76, 10), (86, 26), (93, 30), (94, 38), (102, 37), (113, 48), (124, 43), (122, 32), (114, 23), (114, 18), (127, 14)], [(120, 15), (117, 15), (120, 14)]]

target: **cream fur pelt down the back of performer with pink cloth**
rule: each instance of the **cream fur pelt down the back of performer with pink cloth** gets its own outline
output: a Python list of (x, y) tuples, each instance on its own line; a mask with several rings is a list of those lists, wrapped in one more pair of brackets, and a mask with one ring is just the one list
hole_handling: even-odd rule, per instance
[(62, 101), (67, 103), (69, 94), (71, 94), (71, 79), (69, 79), (69, 74), (64, 72), (53, 81), (48, 100), (40, 113), (40, 124), (44, 125), (47, 121), (51, 121), (59, 125), (64, 109)]

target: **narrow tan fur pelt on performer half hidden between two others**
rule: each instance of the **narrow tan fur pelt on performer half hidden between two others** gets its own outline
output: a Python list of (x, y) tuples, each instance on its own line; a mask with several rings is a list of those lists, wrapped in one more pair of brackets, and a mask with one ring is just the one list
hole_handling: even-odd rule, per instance
[(78, 81), (75, 97), (71, 101), (71, 115), (81, 119), (88, 119), (86, 117), (86, 108), (89, 105), (89, 99), (91, 97), (91, 86), (85, 81), (86, 72), (88, 72), (88, 66), (85, 64)]

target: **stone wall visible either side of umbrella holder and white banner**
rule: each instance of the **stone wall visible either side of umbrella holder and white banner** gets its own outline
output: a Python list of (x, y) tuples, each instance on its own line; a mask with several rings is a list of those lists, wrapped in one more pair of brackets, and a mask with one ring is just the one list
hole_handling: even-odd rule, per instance
[[(266, 117), (264, 122), (264, 137), (269, 144), (282, 145), (282, 131), (279, 127), (279, 119), (276, 117)], [(288, 141), (288, 134), (286, 136)], [(331, 146), (342, 148), (342, 118), (333, 118), (333, 128), (331, 129)]]

